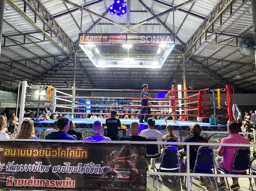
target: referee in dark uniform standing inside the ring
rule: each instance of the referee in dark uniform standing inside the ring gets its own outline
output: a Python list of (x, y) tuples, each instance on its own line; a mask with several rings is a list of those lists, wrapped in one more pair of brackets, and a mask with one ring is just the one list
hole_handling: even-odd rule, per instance
[[(142, 86), (143, 88), (143, 91), (141, 92), (141, 98), (148, 98), (150, 99), (149, 95), (148, 95), (148, 85), (147, 84), (144, 84)], [(148, 101), (148, 99), (141, 99), (141, 114), (151, 114), (151, 110), (150, 108), (144, 108), (143, 106), (149, 106), (149, 105), (152, 105), (152, 103), (150, 103)], [(150, 116), (146, 115), (145, 119), (144, 119), (144, 115), (141, 115), (140, 116), (140, 123), (146, 123), (147, 122), (147, 119), (149, 118)], [(144, 122), (143, 122), (143, 119), (144, 119)]]

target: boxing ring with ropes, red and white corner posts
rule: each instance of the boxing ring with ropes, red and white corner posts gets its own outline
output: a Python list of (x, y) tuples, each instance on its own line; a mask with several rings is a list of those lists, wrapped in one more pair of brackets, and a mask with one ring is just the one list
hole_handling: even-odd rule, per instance
[[(132, 121), (138, 120), (138, 117), (141, 115), (149, 115), (150, 117), (153, 116), (173, 116), (180, 118), (181, 116), (188, 116), (188, 117), (202, 117), (202, 118), (212, 118), (214, 121), (213, 124), (209, 123), (199, 123), (197, 121), (182, 121), (177, 120), (179, 124), (173, 124), (172, 120), (167, 120), (167, 123), (165, 123), (164, 120), (157, 120), (156, 119), (156, 126), (155, 128), (157, 130), (160, 130), (162, 133), (165, 132), (165, 128), (167, 124), (171, 124), (174, 128), (174, 130), (189, 130), (189, 127), (194, 123), (199, 123), (204, 131), (226, 131), (226, 125), (218, 125), (217, 121), (215, 120), (216, 117), (226, 117), (230, 121), (233, 121), (233, 116), (226, 115), (226, 116), (218, 116), (216, 115), (216, 109), (231, 109), (232, 112), (232, 87), (226, 86), (225, 89), (218, 89), (218, 90), (172, 90), (176, 94), (178, 94), (178, 97), (172, 97), (172, 98), (165, 98), (165, 97), (158, 97), (158, 98), (150, 98), (149, 101), (153, 103), (154, 105), (150, 106), (143, 106), (144, 108), (150, 108), (151, 114), (140, 114), (139, 111), (141, 111), (141, 99), (147, 99), (147, 98), (140, 98), (140, 97), (104, 97), (104, 96), (96, 96), (99, 93), (104, 92), (114, 92), (114, 93), (124, 93), (128, 92), (130, 94), (138, 94), (140, 95), (142, 90), (108, 90), (108, 89), (72, 89), (72, 88), (54, 88), (52, 86), (35, 86), (31, 85), (28, 86), (26, 81), (21, 82), (22, 83), (22, 91), (21, 91), (21, 98), (20, 98), (20, 113), (19, 113), (19, 124), (22, 123), (22, 119), (24, 114), (28, 114), (32, 111), (25, 111), (25, 104), (31, 105), (32, 103), (26, 102), (26, 97), (31, 96), (30, 94), (26, 93), (27, 89), (36, 89), (36, 90), (45, 90), (47, 93), (44, 95), (41, 95), (42, 97), (46, 98), (43, 105), (46, 108), (50, 108), (49, 110), (43, 112), (43, 114), (62, 114), (70, 116), (70, 118), (73, 118), (73, 115), (77, 115), (78, 118), (74, 118), (76, 129), (89, 129), (92, 127), (92, 124), (95, 120), (102, 121), (103, 125), (105, 125), (106, 119), (88, 119), (85, 118), (86, 115), (89, 117), (91, 115), (110, 115), (110, 112), (112, 110), (116, 110), (118, 117), (122, 116), (133, 116), (133, 119), (120, 119), (121, 123), (124, 127), (129, 129), (129, 126)], [(20, 88), (20, 86), (19, 86)], [(84, 91), (91, 91), (90, 96), (73, 96), (71, 94), (66, 93), (67, 91), (76, 91), (76, 90), (84, 90)], [(66, 92), (65, 92), (66, 91)], [(149, 95), (151, 93), (162, 93), (166, 95), (169, 90), (147, 90)], [(226, 92), (226, 98), (220, 97), (220, 92)], [(182, 97), (184, 95), (184, 92), (187, 93), (194, 93), (192, 95), (189, 95), (187, 97)], [(204, 98), (204, 94), (206, 93), (213, 93), (213, 98)], [(217, 96), (216, 96), (217, 92)], [(73, 93), (72, 93), (73, 94)], [(40, 96), (40, 95), (39, 95)], [(220, 105), (220, 100), (227, 99), (228, 101), (228, 107), (224, 107)], [(173, 106), (173, 108), (176, 109), (176, 114), (174, 115), (167, 115), (167, 114), (161, 114), (160, 111), (163, 112), (169, 112), (170, 106), (168, 105), (170, 100), (177, 101), (177, 106)], [(210, 100), (213, 101), (213, 106), (207, 105), (207, 102)], [(215, 103), (215, 101), (218, 101), (218, 103)], [(161, 104), (160, 104), (161, 102)], [(64, 103), (64, 104), (63, 104)], [(17, 102), (17, 107), (19, 104), (19, 100)], [(39, 104), (39, 103), (38, 103)], [(41, 103), (40, 103), (41, 104)], [(230, 105), (230, 106), (229, 106)], [(204, 114), (204, 110), (207, 109), (214, 109), (214, 115), (207, 116)], [(62, 110), (62, 111), (57, 111)], [(228, 109), (228, 112), (230, 112)], [(64, 110), (64, 111), (63, 111)], [(67, 111), (66, 111), (67, 110)], [(71, 111), (71, 112), (68, 112)], [(129, 111), (128, 113), (125, 113), (126, 111)], [(41, 111), (34, 111), (36, 113), (41, 113)], [(159, 113), (155, 113), (159, 112)], [(182, 113), (185, 113), (183, 115)], [(71, 116), (72, 115), (72, 116)], [(136, 119), (137, 118), (137, 119)], [(171, 117), (170, 117), (171, 118)], [(53, 123), (55, 120), (47, 120), (42, 121), (40, 118), (34, 118), (34, 126), (36, 128), (52, 128)], [(20, 125), (19, 125), (20, 126)], [(140, 130), (146, 129), (147, 124), (146, 123), (140, 123)], [(19, 128), (18, 128), (19, 129)], [(106, 130), (106, 129), (105, 129)], [(123, 130), (123, 129), (121, 129)], [(123, 133), (124, 134), (124, 133)]]

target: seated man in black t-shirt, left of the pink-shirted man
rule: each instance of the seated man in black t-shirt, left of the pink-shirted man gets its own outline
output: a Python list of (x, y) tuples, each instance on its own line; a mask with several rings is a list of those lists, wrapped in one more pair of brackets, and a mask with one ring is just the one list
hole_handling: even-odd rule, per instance
[[(202, 127), (195, 123), (190, 126), (190, 133), (192, 135), (189, 135), (185, 137), (184, 142), (185, 143), (207, 143), (207, 140), (200, 136), (200, 133), (202, 131)], [(196, 162), (197, 157), (197, 151), (198, 151), (199, 145), (189, 145), (189, 167), (190, 169), (193, 169)], [(187, 155), (187, 147), (184, 147), (185, 155)], [(181, 173), (186, 172), (187, 166), (187, 157), (183, 157), (181, 162)], [(178, 179), (179, 181), (179, 179)], [(184, 185), (184, 176), (181, 176), (181, 184)], [(204, 185), (204, 179), (202, 176), (199, 178), (199, 184)]]

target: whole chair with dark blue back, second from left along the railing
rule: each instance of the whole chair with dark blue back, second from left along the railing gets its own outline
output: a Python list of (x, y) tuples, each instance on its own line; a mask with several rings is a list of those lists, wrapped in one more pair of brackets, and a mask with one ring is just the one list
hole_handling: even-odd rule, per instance
[[(155, 170), (157, 172), (180, 172), (180, 160), (179, 160), (179, 150), (175, 146), (167, 146), (164, 148), (163, 157), (161, 163), (156, 163)], [(153, 187), (154, 187), (155, 175), (153, 175)], [(174, 186), (176, 183), (176, 176), (174, 176)], [(181, 185), (181, 177), (180, 177), (180, 186)], [(158, 185), (158, 175), (157, 175), (157, 190), (159, 191)]]

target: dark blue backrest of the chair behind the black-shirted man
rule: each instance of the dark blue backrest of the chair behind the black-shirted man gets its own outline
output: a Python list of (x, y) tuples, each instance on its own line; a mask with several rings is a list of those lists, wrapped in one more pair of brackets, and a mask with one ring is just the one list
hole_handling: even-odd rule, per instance
[(194, 166), (194, 173), (198, 170), (211, 170), (214, 169), (214, 156), (213, 148), (200, 146), (197, 151), (196, 162)]

